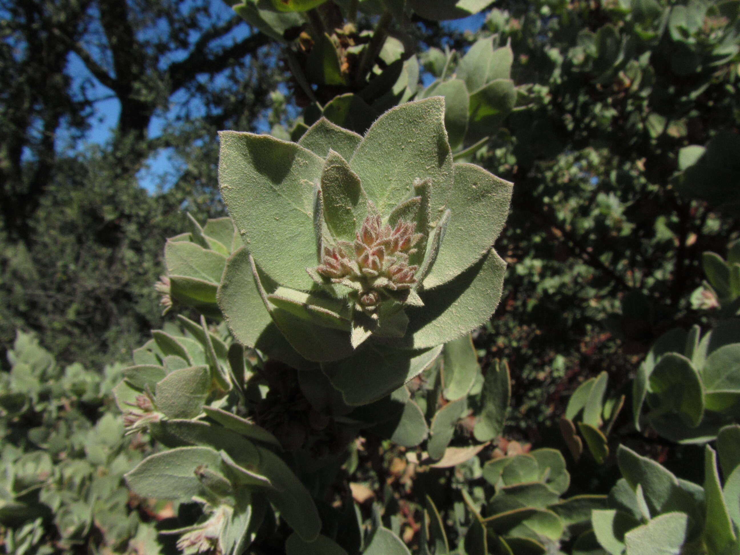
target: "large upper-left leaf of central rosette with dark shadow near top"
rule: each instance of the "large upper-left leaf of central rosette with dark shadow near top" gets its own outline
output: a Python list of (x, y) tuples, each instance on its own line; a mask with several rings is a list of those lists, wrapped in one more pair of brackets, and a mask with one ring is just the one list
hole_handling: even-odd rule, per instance
[(323, 160), (269, 135), (219, 136), (218, 181), (244, 245), (278, 283), (311, 289), (306, 268), (316, 265), (313, 198)]

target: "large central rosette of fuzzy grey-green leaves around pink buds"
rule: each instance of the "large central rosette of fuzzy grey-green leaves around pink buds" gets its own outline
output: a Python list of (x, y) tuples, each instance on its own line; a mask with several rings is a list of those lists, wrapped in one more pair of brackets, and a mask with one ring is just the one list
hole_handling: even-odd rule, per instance
[(511, 184), (453, 162), (443, 97), (389, 110), (364, 137), (323, 118), (297, 143), (221, 132), (219, 182), (244, 244), (218, 289), (226, 323), (320, 366), (351, 405), (411, 379), (499, 302)]

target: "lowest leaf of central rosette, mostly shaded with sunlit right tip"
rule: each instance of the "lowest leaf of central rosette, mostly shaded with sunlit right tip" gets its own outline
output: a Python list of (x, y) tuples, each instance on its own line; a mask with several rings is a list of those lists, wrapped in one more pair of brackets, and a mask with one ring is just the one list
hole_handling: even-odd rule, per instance
[(440, 354), (442, 346), (423, 351), (394, 349), (367, 340), (351, 357), (321, 365), (345, 403), (365, 405), (379, 400), (419, 374)]

